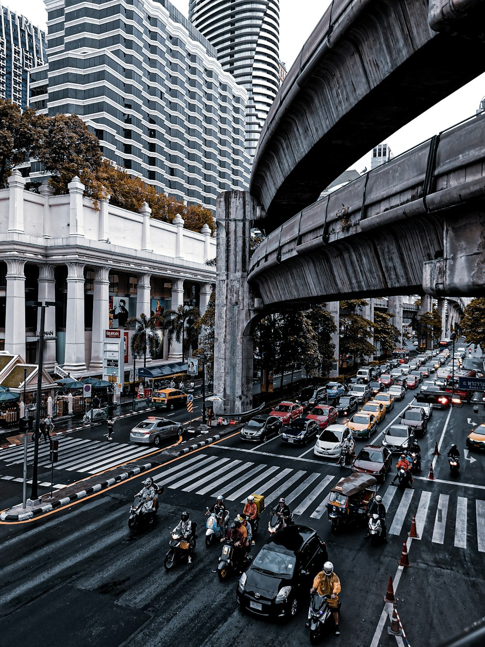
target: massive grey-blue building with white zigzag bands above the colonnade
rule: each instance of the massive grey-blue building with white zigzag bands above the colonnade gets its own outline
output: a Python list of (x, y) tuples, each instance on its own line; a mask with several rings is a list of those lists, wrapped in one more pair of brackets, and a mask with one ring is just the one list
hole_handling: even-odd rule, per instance
[(45, 5), (32, 107), (80, 116), (107, 159), (178, 200), (214, 209), (217, 193), (248, 186), (246, 90), (171, 3)]

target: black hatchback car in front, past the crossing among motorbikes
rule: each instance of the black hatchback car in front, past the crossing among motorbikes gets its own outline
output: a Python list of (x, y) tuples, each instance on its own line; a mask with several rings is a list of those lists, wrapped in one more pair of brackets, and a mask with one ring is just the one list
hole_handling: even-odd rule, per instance
[(243, 612), (291, 619), (327, 561), (327, 547), (316, 531), (288, 525), (276, 532), (242, 573), (236, 597)]

